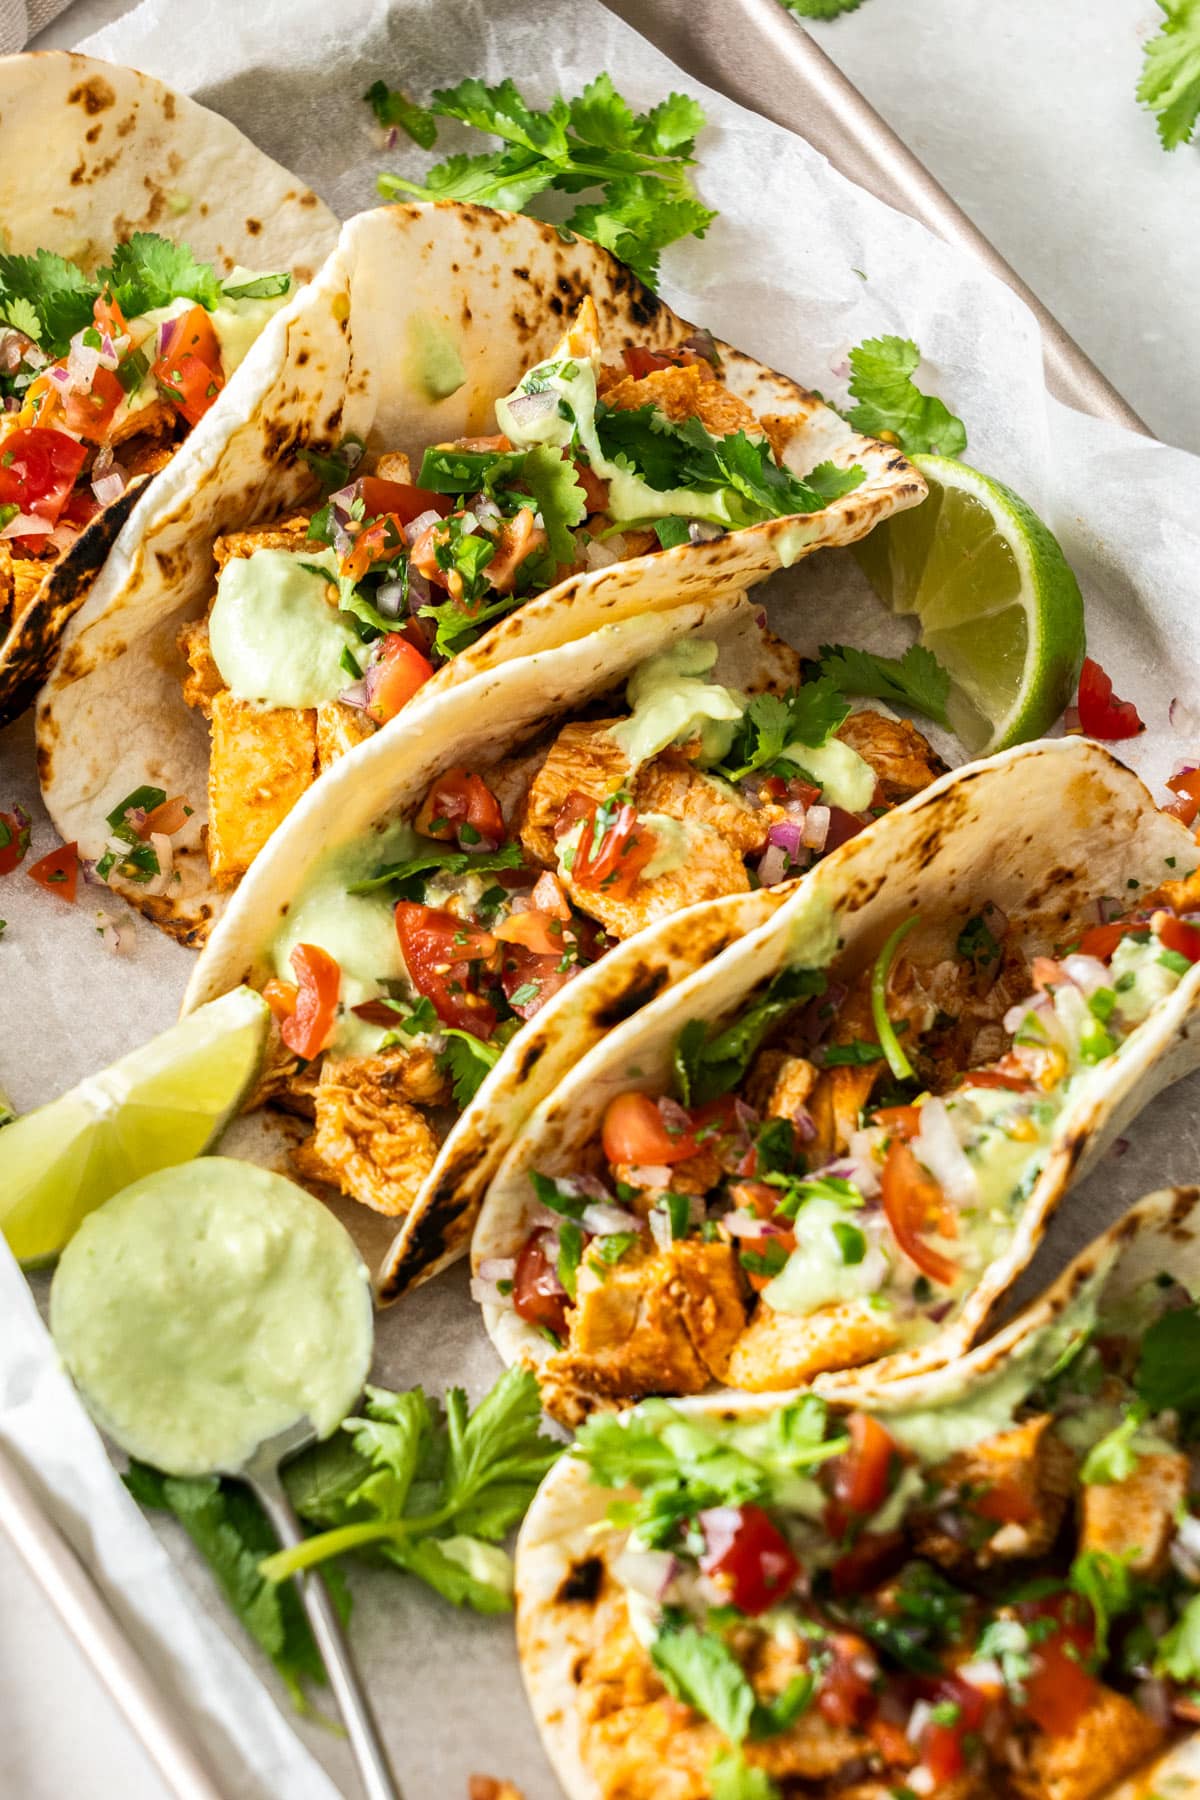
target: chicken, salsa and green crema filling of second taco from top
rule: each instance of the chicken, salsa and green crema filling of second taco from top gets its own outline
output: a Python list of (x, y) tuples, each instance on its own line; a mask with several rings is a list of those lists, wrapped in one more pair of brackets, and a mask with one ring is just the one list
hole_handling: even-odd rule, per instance
[[(426, 387), (461, 380), (435, 333), (417, 338)], [(358, 441), (309, 454), (322, 506), (216, 540), (209, 614), (180, 648), (184, 698), (212, 725), (205, 850), (221, 884), (331, 761), (524, 601), (572, 574), (822, 511), (864, 479), (831, 464), (792, 475), (775, 446), (802, 416), (772, 419), (768, 436), (707, 335), (621, 356), (601, 360), (585, 301), (560, 349), (497, 398), (498, 432), (426, 448), (416, 475), (407, 454), (363, 457)], [(822, 783), (847, 752), (828, 758), (838, 767), (815, 769)], [(847, 810), (869, 803), (849, 794)]]

